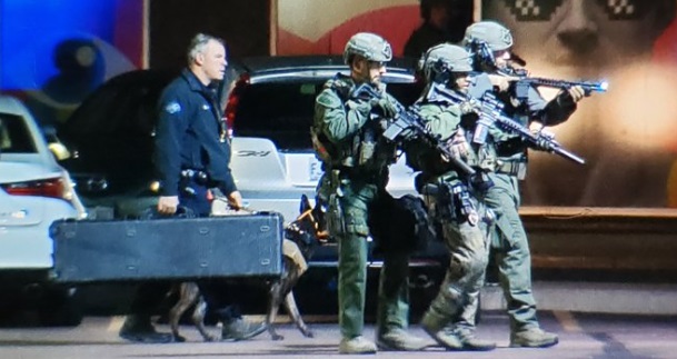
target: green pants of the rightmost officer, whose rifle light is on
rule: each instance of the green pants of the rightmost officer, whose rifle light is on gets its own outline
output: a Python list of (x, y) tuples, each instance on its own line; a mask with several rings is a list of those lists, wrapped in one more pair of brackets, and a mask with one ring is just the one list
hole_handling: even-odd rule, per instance
[[(519, 218), (519, 189), (516, 177), (490, 174), (494, 187), (486, 203), (497, 215), (491, 232), (491, 250), (499, 269), (500, 286), (508, 305), (510, 330), (538, 327), (536, 300), (531, 292), (531, 255), (524, 225)], [(477, 293), (457, 321), (459, 330), (475, 330)]]

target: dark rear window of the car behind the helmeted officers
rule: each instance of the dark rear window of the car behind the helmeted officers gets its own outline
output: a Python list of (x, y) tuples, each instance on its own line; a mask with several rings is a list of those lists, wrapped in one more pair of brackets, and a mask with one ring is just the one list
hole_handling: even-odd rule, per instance
[[(310, 150), (315, 98), (326, 80), (258, 82), (238, 89), (233, 134), (268, 138), (280, 151)], [(420, 89), (415, 83), (389, 83), (388, 92), (407, 106)]]

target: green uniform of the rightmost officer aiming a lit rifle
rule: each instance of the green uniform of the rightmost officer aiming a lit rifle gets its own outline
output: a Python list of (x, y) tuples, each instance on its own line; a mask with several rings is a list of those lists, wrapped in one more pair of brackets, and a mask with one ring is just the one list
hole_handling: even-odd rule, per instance
[[(476, 78), (470, 94), (481, 97), (491, 90), (486, 74)], [(566, 94), (546, 102), (534, 88), (528, 91), (528, 99), (518, 107), (511, 106), (507, 99), (506, 113), (522, 126), (528, 126), (531, 119), (542, 123), (557, 124), (566, 121), (576, 109), (575, 103)], [(519, 180), (526, 176), (526, 147), (516, 142), (516, 137), (505, 133), (502, 141), (496, 143), (499, 156), (496, 172), (489, 173), (494, 182), (485, 197), (486, 205), (497, 217), (491, 233), (491, 250), (499, 270), (499, 281), (507, 302), (511, 332), (529, 328), (538, 328), (537, 308), (531, 291), (531, 255), (529, 241), (519, 217), (521, 203)], [(477, 298), (477, 295), (474, 295)], [(465, 330), (475, 329), (477, 299), (469, 302), (459, 318), (457, 326)]]

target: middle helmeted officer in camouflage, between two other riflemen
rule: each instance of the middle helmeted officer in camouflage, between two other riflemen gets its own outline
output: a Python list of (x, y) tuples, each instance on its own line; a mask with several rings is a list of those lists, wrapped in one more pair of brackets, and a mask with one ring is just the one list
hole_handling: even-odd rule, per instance
[(477, 339), (475, 332), (456, 332), (449, 325), (484, 282), (491, 213), (486, 210), (482, 197), (491, 186), (486, 173), (495, 167), (492, 136), (484, 143), (469, 144), (466, 139), (477, 122), (472, 104), (465, 100), (472, 70), (468, 51), (458, 46), (438, 44), (424, 54), (420, 67), (427, 87), (416, 103), (418, 113), (426, 128), (447, 141), (451, 152), (476, 170), (471, 177), (459, 171), (425, 143), (406, 147), (409, 166), (421, 171), (417, 189), (424, 195), (430, 217), (440, 223), (451, 258), (439, 293), (425, 312), (421, 326), (449, 350), (491, 350), (495, 343)]

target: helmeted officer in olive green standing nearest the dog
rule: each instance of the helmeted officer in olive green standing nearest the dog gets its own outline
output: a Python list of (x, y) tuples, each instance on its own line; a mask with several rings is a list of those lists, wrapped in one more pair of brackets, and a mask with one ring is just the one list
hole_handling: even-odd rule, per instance
[[(397, 111), (381, 83), (390, 44), (381, 37), (360, 32), (344, 51), (350, 76), (338, 73), (318, 94), (312, 141), (325, 174), (318, 196), (329, 203), (330, 235), (339, 245), (340, 353), (374, 353), (377, 346), (362, 337), (367, 285), (369, 208), (388, 196), (388, 166), (395, 144), (385, 141), (380, 121)], [(360, 96), (360, 86), (372, 87), (380, 99)], [(419, 350), (426, 341), (406, 332), (408, 327), (408, 253), (384, 255), (377, 318), (381, 350)]]

